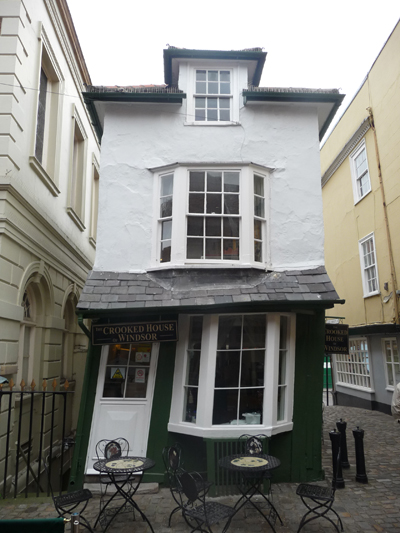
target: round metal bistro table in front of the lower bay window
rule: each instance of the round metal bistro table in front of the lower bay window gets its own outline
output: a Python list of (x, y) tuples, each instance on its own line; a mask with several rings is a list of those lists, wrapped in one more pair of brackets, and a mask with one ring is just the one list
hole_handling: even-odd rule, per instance
[[(222, 468), (231, 472), (237, 472), (242, 477), (242, 484), (238, 485), (238, 489), (242, 495), (235, 504), (236, 512), (246, 505), (246, 503), (250, 503), (265, 518), (274, 532), (276, 518), (279, 518), (282, 525), (283, 522), (272, 502), (262, 491), (262, 485), (264, 474), (268, 470), (278, 468), (280, 464), (280, 460), (272, 455), (254, 455), (250, 453), (229, 455), (219, 460), (219, 465)], [(261, 507), (252, 500), (252, 497), (256, 494), (264, 499), (266, 508), (269, 509), (268, 514), (263, 513)]]

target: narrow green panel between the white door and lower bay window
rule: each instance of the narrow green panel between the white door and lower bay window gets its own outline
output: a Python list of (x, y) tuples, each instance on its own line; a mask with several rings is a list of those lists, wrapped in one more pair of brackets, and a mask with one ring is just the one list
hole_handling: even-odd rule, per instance
[(157, 375), (154, 384), (153, 406), (150, 418), (147, 457), (155, 466), (144, 475), (145, 482), (164, 482), (162, 450), (168, 444), (168, 421), (171, 409), (172, 383), (175, 369), (176, 342), (160, 342)]

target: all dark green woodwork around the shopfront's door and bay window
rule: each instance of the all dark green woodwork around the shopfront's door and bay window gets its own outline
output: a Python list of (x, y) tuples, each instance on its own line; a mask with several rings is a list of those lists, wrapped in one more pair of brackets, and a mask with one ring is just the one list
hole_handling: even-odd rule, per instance
[[(163, 317), (163, 319), (167, 318), (171, 319), (171, 316)], [(274, 435), (270, 441), (270, 453), (281, 460), (280, 468), (274, 471), (274, 481), (277, 482), (313, 481), (322, 479), (324, 476), (321, 468), (324, 333), (324, 309), (317, 308), (311, 313), (297, 313), (294, 426), (291, 432)], [(154, 459), (156, 464), (145, 474), (144, 479), (146, 482), (164, 483), (166, 481), (162, 449), (168, 444), (179, 442), (183, 449), (185, 468), (199, 471), (210, 480), (214, 480), (216, 474), (212, 469), (212, 465), (215, 464), (215, 452), (212, 451), (213, 439), (168, 432), (175, 351), (176, 343), (160, 343), (147, 447), (147, 456)], [(70, 490), (83, 485), (100, 353), (101, 346), (90, 346), (86, 361)], [(217, 440), (224, 439), (215, 439)], [(233, 441), (234, 439), (227, 440)]]

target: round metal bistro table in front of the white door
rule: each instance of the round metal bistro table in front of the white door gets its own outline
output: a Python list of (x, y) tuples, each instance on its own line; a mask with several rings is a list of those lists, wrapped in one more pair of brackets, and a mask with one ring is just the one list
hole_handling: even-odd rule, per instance
[[(133, 499), (136, 491), (138, 490), (140, 483), (142, 481), (144, 472), (153, 468), (155, 462), (153, 459), (148, 459), (147, 457), (119, 457), (117, 459), (101, 459), (94, 463), (93, 468), (100, 472), (101, 474), (106, 474), (112, 480), (116, 492), (110, 497), (106, 505), (101, 509), (99, 516), (97, 517), (95, 526), (97, 524), (105, 522), (104, 531), (109, 527), (114, 518), (118, 515), (120, 511), (126, 506), (132, 506), (133, 510), (138, 511), (140, 516), (149, 524), (151, 531), (154, 533), (153, 527), (149, 522), (149, 519), (140, 509), (139, 505)], [(121, 474), (125, 474), (124, 479), (121, 481)], [(137, 483), (133, 486), (132, 480), (134, 477), (137, 477)], [(118, 505), (116, 510), (112, 512), (107, 512), (111, 510), (111, 503), (116, 496), (122, 496), (123, 503)], [(107, 521), (107, 516), (109, 520)], [(104, 519), (104, 520), (102, 520)]]

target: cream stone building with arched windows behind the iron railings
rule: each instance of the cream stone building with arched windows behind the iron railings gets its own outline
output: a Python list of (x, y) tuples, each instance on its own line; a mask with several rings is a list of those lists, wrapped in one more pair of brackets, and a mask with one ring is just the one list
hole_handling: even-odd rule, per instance
[[(11, 380), (25, 390), (68, 380), (67, 435), (87, 347), (75, 306), (96, 244), (99, 143), (82, 98), (90, 83), (66, 0), (0, 2), (0, 376), (4, 390)], [(20, 444), (38, 446), (26, 434)]]

